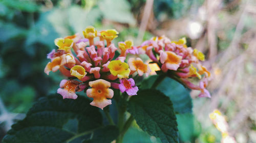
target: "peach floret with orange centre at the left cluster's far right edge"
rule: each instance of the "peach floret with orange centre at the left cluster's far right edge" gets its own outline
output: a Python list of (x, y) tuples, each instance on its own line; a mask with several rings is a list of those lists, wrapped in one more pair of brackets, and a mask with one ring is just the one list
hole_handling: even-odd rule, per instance
[(145, 73), (146, 77), (150, 74), (151, 69), (147, 64), (144, 64), (140, 58), (130, 58), (128, 61), (131, 71), (137, 71), (139, 76)]

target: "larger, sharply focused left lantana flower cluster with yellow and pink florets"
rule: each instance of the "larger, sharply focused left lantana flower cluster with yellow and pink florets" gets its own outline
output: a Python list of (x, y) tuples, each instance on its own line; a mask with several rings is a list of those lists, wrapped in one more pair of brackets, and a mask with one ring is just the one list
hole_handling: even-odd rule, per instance
[[(112, 40), (117, 34), (116, 30), (97, 32), (93, 26), (88, 26), (83, 31), (84, 38), (75, 34), (55, 39), (58, 49), (47, 55), (51, 62), (47, 64), (45, 73), (49, 75), (50, 71), (59, 70), (70, 79), (63, 79), (57, 90), (63, 99), (76, 99), (76, 92), (86, 90), (87, 96), (93, 98), (90, 104), (103, 109), (111, 104), (114, 92), (110, 88), (130, 96), (137, 95), (138, 87), (129, 76), (136, 71), (139, 76), (143, 73), (147, 76), (151, 70), (140, 58), (129, 59), (129, 64), (124, 62), (126, 50), (133, 46), (131, 40), (118, 43), (121, 54), (115, 57), (118, 48)], [(95, 42), (95, 38), (99, 40)]]

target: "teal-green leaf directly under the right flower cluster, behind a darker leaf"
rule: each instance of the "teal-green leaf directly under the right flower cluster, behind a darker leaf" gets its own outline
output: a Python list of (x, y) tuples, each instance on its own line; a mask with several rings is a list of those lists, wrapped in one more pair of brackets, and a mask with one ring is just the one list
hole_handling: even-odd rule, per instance
[(163, 92), (170, 98), (170, 100), (172, 100), (175, 112), (192, 112), (192, 99), (189, 94), (190, 90), (184, 88), (184, 86), (176, 80), (166, 77), (156, 89)]

